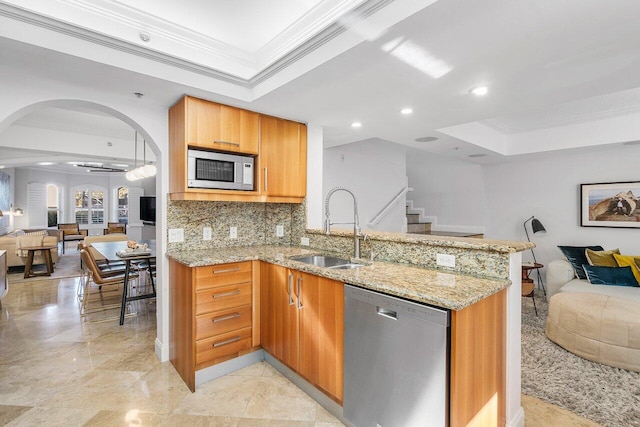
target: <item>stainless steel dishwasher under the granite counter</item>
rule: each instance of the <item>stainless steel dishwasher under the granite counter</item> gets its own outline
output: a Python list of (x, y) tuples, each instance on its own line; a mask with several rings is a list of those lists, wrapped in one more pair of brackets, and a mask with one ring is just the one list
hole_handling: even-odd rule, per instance
[(344, 291), (344, 417), (356, 427), (446, 426), (449, 311)]

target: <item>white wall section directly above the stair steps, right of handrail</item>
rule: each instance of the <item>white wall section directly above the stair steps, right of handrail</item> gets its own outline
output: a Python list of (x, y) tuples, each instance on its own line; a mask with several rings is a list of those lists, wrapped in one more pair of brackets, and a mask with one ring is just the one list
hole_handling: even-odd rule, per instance
[(410, 150), (407, 176), (414, 191), (407, 194), (416, 208), (435, 217), (433, 230), (482, 232), (485, 225), (485, 198), (479, 165)]

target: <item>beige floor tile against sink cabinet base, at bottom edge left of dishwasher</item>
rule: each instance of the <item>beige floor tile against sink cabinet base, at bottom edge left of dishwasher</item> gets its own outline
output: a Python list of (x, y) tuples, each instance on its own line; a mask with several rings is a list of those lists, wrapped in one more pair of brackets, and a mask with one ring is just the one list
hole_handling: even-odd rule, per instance
[(315, 421), (317, 403), (282, 376), (263, 377), (244, 418)]

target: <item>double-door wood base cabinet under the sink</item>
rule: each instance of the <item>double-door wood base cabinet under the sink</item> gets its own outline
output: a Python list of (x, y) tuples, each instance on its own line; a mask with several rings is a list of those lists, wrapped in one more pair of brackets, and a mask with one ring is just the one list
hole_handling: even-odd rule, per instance
[(260, 292), (262, 347), (341, 404), (343, 283), (262, 263)]

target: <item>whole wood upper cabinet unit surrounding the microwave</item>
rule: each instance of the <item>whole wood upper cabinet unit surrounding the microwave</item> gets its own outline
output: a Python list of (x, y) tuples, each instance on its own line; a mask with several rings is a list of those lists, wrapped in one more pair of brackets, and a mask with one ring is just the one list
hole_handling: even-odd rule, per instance
[[(187, 150), (257, 155), (254, 191), (189, 188)], [(185, 96), (169, 110), (171, 200), (301, 203), (307, 187), (307, 127)]]

